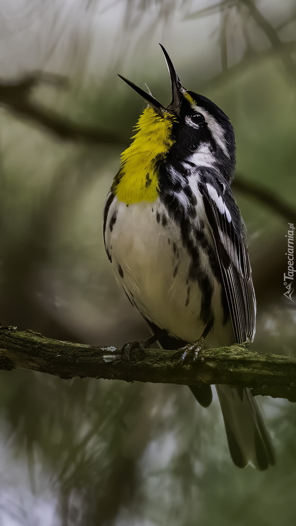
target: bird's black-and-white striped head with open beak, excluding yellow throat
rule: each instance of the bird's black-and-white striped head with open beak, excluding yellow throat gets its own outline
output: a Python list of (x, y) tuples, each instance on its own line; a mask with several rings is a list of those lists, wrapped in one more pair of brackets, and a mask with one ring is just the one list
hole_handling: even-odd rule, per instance
[(230, 183), (236, 165), (236, 144), (229, 118), (210, 99), (190, 92), (182, 86), (166, 49), (161, 44), (160, 46), (171, 79), (172, 100), (167, 108), (162, 106), (150, 92), (146, 93), (130, 80), (119, 76), (147, 100), (158, 117), (168, 112), (173, 115), (174, 144), (170, 149), (169, 157), (190, 158), (197, 165), (207, 164), (210, 161), (213, 164), (215, 159), (215, 164)]

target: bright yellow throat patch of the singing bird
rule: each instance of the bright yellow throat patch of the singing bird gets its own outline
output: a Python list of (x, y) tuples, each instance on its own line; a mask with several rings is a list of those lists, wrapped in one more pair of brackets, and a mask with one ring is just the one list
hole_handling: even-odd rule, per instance
[(160, 116), (150, 107), (139, 117), (134, 141), (121, 154), (120, 170), (112, 187), (119, 201), (129, 205), (156, 200), (157, 161), (166, 157), (174, 142), (171, 128), (175, 120), (170, 112)]

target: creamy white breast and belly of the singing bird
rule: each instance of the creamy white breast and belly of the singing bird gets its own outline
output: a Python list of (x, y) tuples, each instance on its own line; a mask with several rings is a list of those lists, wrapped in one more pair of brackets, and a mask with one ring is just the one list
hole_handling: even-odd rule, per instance
[(172, 336), (197, 340), (205, 328), (198, 283), (188, 276), (190, 256), (180, 228), (159, 199), (127, 206), (115, 198), (105, 242), (117, 281), (139, 311)]

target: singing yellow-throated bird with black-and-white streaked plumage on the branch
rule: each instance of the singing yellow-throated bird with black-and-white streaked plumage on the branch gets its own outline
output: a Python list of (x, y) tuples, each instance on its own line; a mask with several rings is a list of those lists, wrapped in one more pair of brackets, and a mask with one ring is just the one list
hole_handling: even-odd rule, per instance
[[(118, 284), (154, 335), (147, 346), (183, 349), (182, 361), (202, 347), (249, 345), (256, 298), (246, 227), (231, 190), (233, 126), (210, 99), (183, 87), (160, 46), (171, 81), (167, 107), (119, 75), (147, 107), (107, 195), (104, 242)], [(208, 407), (211, 386), (189, 387)], [(273, 465), (270, 434), (250, 390), (216, 390), (234, 464)]]

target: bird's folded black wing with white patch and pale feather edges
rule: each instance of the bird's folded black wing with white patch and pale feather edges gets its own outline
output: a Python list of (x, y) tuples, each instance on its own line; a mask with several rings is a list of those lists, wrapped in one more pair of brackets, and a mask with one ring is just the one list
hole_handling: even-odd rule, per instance
[(222, 177), (201, 175), (199, 190), (213, 232), (236, 342), (250, 342), (255, 333), (256, 299), (239, 208)]

